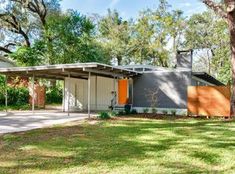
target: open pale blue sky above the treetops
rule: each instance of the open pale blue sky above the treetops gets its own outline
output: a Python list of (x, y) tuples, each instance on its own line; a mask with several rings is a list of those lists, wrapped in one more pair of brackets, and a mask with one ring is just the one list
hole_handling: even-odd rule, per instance
[[(137, 18), (138, 12), (146, 8), (156, 8), (158, 0), (62, 0), (63, 10), (74, 9), (84, 15), (105, 15), (107, 9), (117, 9), (124, 19)], [(200, 13), (206, 6), (200, 0), (168, 0), (172, 9), (180, 9), (185, 16)]]

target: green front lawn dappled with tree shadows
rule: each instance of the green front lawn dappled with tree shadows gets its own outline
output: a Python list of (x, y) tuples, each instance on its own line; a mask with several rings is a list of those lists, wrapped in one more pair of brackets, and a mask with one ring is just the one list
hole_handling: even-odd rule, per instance
[(129, 118), (2, 135), (0, 173), (235, 173), (235, 121)]

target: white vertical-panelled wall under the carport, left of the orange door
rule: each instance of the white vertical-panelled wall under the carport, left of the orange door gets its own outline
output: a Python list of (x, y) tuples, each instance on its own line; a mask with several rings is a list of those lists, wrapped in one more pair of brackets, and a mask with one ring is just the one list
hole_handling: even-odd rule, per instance
[[(97, 83), (96, 83), (97, 78)], [(70, 84), (70, 85), (69, 85)], [(96, 86), (97, 84), (97, 86)], [(117, 83), (116, 89), (117, 89)], [(70, 90), (68, 87), (70, 86)], [(97, 87), (97, 89), (96, 89)], [(70, 110), (87, 110), (88, 81), (65, 78), (65, 111), (68, 110), (68, 92), (70, 91)], [(91, 110), (108, 110), (111, 105), (114, 79), (99, 76), (91, 77)]]

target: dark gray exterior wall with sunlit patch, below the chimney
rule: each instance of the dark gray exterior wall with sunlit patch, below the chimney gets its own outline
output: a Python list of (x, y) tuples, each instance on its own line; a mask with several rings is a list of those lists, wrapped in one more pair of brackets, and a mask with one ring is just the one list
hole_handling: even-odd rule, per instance
[(187, 108), (191, 71), (154, 71), (134, 78), (133, 107), (151, 107), (149, 95), (158, 90), (157, 108)]

